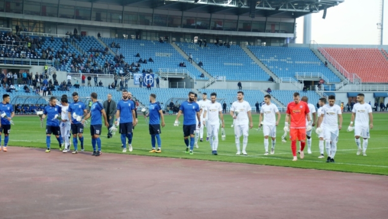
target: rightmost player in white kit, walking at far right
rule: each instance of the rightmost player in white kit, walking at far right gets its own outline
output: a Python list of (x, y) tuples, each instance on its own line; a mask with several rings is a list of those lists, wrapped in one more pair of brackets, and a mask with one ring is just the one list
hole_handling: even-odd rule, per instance
[[(368, 138), (369, 129), (373, 129), (373, 115), (372, 115), (372, 107), (364, 102), (364, 94), (360, 93), (357, 95), (357, 104), (353, 106), (352, 109), (352, 118), (350, 119), (350, 125), (348, 131), (353, 131), (354, 136), (356, 138), (356, 144), (359, 150), (357, 151), (357, 155), (360, 155), (362, 152), (363, 156), (366, 156), (366, 148), (368, 147)], [(356, 119), (356, 120), (355, 120)], [(353, 121), (356, 122), (355, 127), (353, 128)], [(361, 140), (362, 137), (364, 140)]]

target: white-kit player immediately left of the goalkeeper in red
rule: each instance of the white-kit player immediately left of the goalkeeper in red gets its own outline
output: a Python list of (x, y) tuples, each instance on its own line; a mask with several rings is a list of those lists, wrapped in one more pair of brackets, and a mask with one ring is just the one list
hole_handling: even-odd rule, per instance
[[(267, 94), (264, 96), (265, 104), (261, 106), (260, 109), (260, 118), (259, 118), (259, 128), (261, 128), (261, 123), (263, 123), (263, 134), (264, 134), (264, 155), (268, 155), (268, 137), (272, 138), (272, 148), (271, 154), (275, 154), (275, 144), (276, 144), (276, 127), (279, 124), (280, 112), (277, 109), (277, 106), (271, 103), (271, 95)], [(276, 119), (277, 115), (277, 119)], [(264, 116), (264, 120), (263, 120)]]

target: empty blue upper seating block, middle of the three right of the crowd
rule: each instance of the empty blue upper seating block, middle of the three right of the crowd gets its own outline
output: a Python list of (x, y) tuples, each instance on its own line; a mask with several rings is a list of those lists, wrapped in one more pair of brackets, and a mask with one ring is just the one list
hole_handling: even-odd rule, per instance
[(269, 75), (241, 49), (240, 46), (216, 46), (207, 44), (199, 47), (193, 43), (177, 43), (193, 61), (203, 62), (203, 69), (212, 76), (226, 76), (230, 81), (268, 81)]

